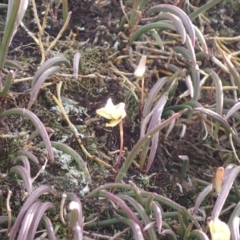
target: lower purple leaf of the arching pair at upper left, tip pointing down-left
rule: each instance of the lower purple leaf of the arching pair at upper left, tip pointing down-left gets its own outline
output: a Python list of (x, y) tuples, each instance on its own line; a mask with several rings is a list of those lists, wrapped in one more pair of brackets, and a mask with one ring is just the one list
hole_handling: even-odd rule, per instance
[(28, 107), (27, 109), (30, 109), (33, 105), (33, 103), (35, 102), (35, 100), (37, 99), (37, 95), (41, 89), (41, 86), (43, 85), (43, 83), (47, 80), (47, 78), (59, 71), (61, 69), (61, 67), (59, 66), (53, 66), (53, 67), (49, 67), (47, 70), (44, 71), (44, 73), (38, 78), (38, 80), (36, 81), (35, 85), (33, 86), (32, 88), (32, 91), (31, 91), (31, 97), (30, 97), (30, 100), (28, 102)]

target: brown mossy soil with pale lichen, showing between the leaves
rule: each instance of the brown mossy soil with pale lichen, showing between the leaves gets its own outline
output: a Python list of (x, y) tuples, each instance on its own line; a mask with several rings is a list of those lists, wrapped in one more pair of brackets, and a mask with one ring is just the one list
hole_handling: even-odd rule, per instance
[[(72, 61), (74, 53), (80, 52), (84, 59), (83, 70), (80, 75), (94, 74), (94, 78), (79, 78), (64, 76), (71, 74), (72, 69), (63, 67), (59, 75), (54, 75), (49, 78), (48, 82), (63, 81), (62, 98), (66, 100), (66, 105), (71, 105), (68, 115), (70, 121), (82, 134), (82, 141), (85, 148), (91, 153), (106, 161), (111, 166), (114, 166), (117, 154), (110, 154), (119, 149), (119, 129), (118, 127), (106, 128), (106, 121), (96, 115), (96, 109), (103, 107), (107, 99), (112, 98), (114, 103), (125, 102), (127, 117), (124, 119), (124, 148), (131, 150), (134, 144), (139, 139), (140, 126), (140, 111), (139, 102), (136, 101), (133, 94), (128, 90), (122, 77), (116, 74), (114, 69), (125, 73), (133, 73), (134, 69), (130, 64), (129, 57), (119, 60), (119, 56), (126, 55), (127, 43), (119, 35), (119, 22), (123, 16), (121, 7), (118, 1), (69, 1), (69, 8), (72, 11), (71, 21), (61, 37), (60, 41), (51, 52), (52, 56), (63, 54), (69, 61)], [(151, 3), (153, 4), (153, 3)], [(193, 3), (194, 4), (194, 3)], [(203, 4), (203, 2), (198, 3)], [(44, 9), (44, 1), (37, 1), (39, 13)], [(129, 5), (130, 7), (131, 5)], [(214, 21), (214, 23), (206, 24), (206, 34), (214, 35), (217, 31), (223, 32), (222, 29), (230, 31), (233, 36), (239, 34), (238, 14), (234, 13), (229, 4), (221, 4), (212, 9), (208, 15), (218, 16), (218, 12), (224, 9), (224, 13)], [(229, 16), (233, 22), (224, 17)], [(144, 17), (144, 13), (143, 13)], [(58, 18), (61, 19), (61, 11), (59, 9)], [(29, 10), (27, 17), (24, 20), (30, 31), (36, 33), (37, 27), (33, 22), (33, 16)], [(2, 21), (2, 20), (1, 20)], [(195, 24), (198, 24), (196, 21)], [(223, 27), (224, 25), (224, 27)], [(0, 25), (1, 27), (1, 25)], [(59, 20), (57, 24), (49, 20), (47, 35), (44, 44), (47, 44), (47, 36), (55, 38), (62, 27), (62, 22)], [(230, 30), (229, 30), (230, 29)], [(67, 36), (73, 31), (76, 34), (75, 40), (67, 40)], [(223, 33), (225, 34), (225, 33)], [(114, 44), (119, 41), (119, 50), (116, 54)], [(212, 52), (216, 50), (215, 45), (208, 41)], [(170, 49), (171, 46), (166, 46)], [(229, 45), (229, 49), (238, 49), (238, 44)], [(116, 54), (115, 56), (113, 54)], [(49, 56), (46, 56), (49, 57)], [(18, 72), (18, 78), (32, 77), (36, 72), (41, 61), (41, 52), (39, 47), (26, 34), (25, 30), (19, 27), (9, 50), (9, 58), (19, 62), (23, 70)], [(205, 67), (210, 67), (209, 62), (202, 62)], [(151, 69), (159, 77), (164, 76), (163, 71), (165, 62), (163, 60), (155, 60), (151, 62)], [(134, 81), (129, 77), (130, 81)], [(156, 74), (149, 74), (146, 77), (145, 93), (149, 92), (153, 84), (156, 82)], [(30, 82), (22, 82), (14, 84), (11, 89), (11, 94), (8, 98), (0, 99), (1, 111), (12, 107), (27, 107), (29, 101)], [(182, 93), (186, 87), (179, 86), (179, 93)], [(97, 186), (114, 181), (114, 173), (112, 169), (106, 168), (98, 163), (86, 158), (81, 151), (75, 137), (68, 128), (67, 122), (62, 117), (61, 113), (56, 109), (56, 104), (49, 97), (48, 92), (51, 91), (56, 95), (55, 85), (45, 87), (41, 90), (37, 102), (34, 104), (32, 111), (40, 118), (45, 126), (54, 129), (55, 133), (51, 140), (62, 141), (68, 146), (75, 149), (87, 161), (89, 171), (92, 177), (92, 184), (89, 186), (93, 190)], [(140, 92), (136, 92), (140, 97)], [(231, 94), (231, 92), (229, 93)], [(69, 100), (74, 101), (69, 103)], [(211, 93), (204, 92), (201, 99), (204, 104), (211, 104)], [(182, 124), (187, 125), (187, 131), (184, 137), (180, 138)], [(19, 134), (20, 132), (34, 131), (34, 127), (28, 120), (21, 117), (9, 117), (4, 119), (0, 125), (0, 135)], [(211, 136), (206, 140), (202, 140), (204, 129), (201, 121), (197, 116), (192, 119), (181, 119), (177, 122), (174, 131), (165, 137), (166, 131), (160, 134), (158, 152), (148, 174), (140, 172), (132, 166), (124, 178), (124, 181), (134, 181), (139, 187), (162, 194), (171, 198), (173, 201), (185, 206), (192, 207), (201, 187), (194, 182), (194, 179), (201, 179), (207, 182), (212, 181), (215, 169), (218, 166), (223, 166), (232, 161), (232, 150), (227, 140), (217, 142)], [(223, 134), (224, 135), (224, 134)], [(23, 185), (18, 176), (9, 173), (9, 169), (16, 164), (16, 152), (25, 147), (30, 147), (34, 154), (38, 156), (40, 165), (44, 163), (44, 153), (37, 149), (36, 144), (41, 141), (40, 138), (34, 142), (28, 142), (24, 137), (1, 137), (1, 156), (0, 170), (1, 174), (7, 173), (7, 176), (0, 176), (0, 186), (3, 191), (4, 198), (10, 189), (13, 191), (12, 210), (13, 215), (19, 210), (19, 206), (23, 203), (22, 193)], [(28, 145), (26, 145), (28, 144)], [(189, 177), (192, 179), (192, 185), (186, 179), (181, 192), (176, 182), (179, 181), (182, 162), (179, 155), (187, 155), (190, 159), (188, 170)], [(102, 211), (107, 208), (107, 203), (96, 200), (85, 201), (81, 195), (81, 190), (85, 184), (78, 177), (71, 176), (69, 169), (63, 169), (58, 161), (60, 156), (56, 156), (55, 162), (49, 162), (46, 168), (46, 173), (41, 175), (35, 182), (36, 187), (41, 184), (51, 185), (56, 196), (52, 199), (54, 202), (60, 202), (61, 195), (64, 192), (73, 191), (77, 194), (82, 202), (84, 215), (89, 216), (91, 213), (101, 212), (102, 219), (107, 218), (107, 213)], [(74, 163), (71, 165), (75, 167)], [(32, 166), (32, 176), (38, 172), (39, 167)], [(0, 213), (1, 215), (1, 213)], [(57, 222), (57, 220), (56, 220)], [(66, 234), (63, 231), (63, 236)], [(97, 228), (95, 233), (111, 235), (114, 229)], [(1, 239), (3, 236), (0, 233)], [(125, 239), (130, 239), (129, 238)]]

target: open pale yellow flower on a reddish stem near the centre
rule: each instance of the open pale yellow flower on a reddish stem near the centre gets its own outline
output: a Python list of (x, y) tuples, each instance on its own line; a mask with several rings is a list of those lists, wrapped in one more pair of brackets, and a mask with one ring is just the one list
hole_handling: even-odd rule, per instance
[(96, 113), (111, 120), (110, 123), (106, 124), (106, 127), (116, 126), (127, 115), (125, 111), (125, 103), (114, 105), (111, 98), (108, 99), (105, 107), (97, 109)]

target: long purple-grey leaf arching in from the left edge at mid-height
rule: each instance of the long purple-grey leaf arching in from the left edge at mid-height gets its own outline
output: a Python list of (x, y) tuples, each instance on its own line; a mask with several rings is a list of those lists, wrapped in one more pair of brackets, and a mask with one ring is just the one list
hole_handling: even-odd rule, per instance
[(53, 161), (54, 156), (53, 156), (53, 151), (50, 143), (50, 139), (48, 137), (47, 131), (45, 127), (43, 126), (42, 122), (39, 120), (39, 118), (31, 111), (25, 109), (25, 108), (12, 108), (9, 110), (6, 110), (0, 114), (0, 118), (2, 117), (7, 117), (9, 115), (21, 115), (23, 117), (27, 117), (33, 125), (35, 126), (36, 129), (39, 129), (40, 135), (46, 145), (46, 149), (49, 154), (49, 158)]

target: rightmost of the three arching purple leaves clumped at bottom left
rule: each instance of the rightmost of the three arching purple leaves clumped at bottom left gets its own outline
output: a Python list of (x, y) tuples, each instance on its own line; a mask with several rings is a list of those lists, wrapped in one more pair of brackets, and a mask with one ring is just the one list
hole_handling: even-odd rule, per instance
[(44, 202), (41, 203), (41, 205), (38, 207), (37, 212), (35, 213), (34, 216), (34, 221), (32, 221), (32, 224), (30, 226), (30, 230), (29, 230), (29, 234), (28, 234), (28, 239), (34, 239), (36, 231), (37, 231), (37, 227), (42, 219), (42, 217), (44, 216), (44, 213), (48, 210), (48, 209), (54, 209), (55, 206), (53, 203), (51, 202)]

